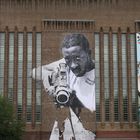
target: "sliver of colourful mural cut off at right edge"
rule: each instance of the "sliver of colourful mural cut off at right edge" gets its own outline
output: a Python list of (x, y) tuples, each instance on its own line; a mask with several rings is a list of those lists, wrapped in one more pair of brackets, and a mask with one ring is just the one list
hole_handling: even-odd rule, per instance
[(138, 121), (140, 125), (140, 33), (136, 33), (137, 46), (137, 80), (138, 80)]

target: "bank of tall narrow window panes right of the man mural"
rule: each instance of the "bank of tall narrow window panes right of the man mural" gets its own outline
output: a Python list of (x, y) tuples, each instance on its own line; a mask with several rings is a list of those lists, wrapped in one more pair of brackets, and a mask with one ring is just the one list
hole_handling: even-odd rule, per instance
[[(101, 121), (101, 115), (105, 116), (105, 121), (109, 121), (109, 116), (110, 116), (110, 90), (109, 90), (109, 35), (108, 33), (103, 34), (103, 45), (104, 45), (104, 110), (105, 114), (100, 114), (100, 53), (99, 53), (99, 45), (100, 45), (100, 38), (99, 38), (100, 33), (95, 33), (95, 69), (96, 69), (96, 120)], [(119, 94), (118, 94), (118, 34), (117, 33), (112, 33), (112, 53), (113, 53), (113, 81), (114, 81), (114, 86), (113, 86), (113, 92), (114, 92), (114, 121), (119, 122)], [(126, 46), (126, 33), (121, 34), (121, 52), (122, 52), (122, 59), (121, 59), (121, 67), (122, 67), (122, 108), (123, 108), (123, 120), (128, 122), (129, 120), (129, 115), (132, 115), (133, 121), (136, 121), (136, 109), (137, 109), (137, 97), (136, 97), (136, 58), (135, 58), (135, 35), (130, 34), (130, 48), (127, 48)], [(132, 114), (128, 114), (128, 92), (127, 92), (127, 49), (130, 50), (131, 54), (131, 97), (132, 97)], [(103, 112), (102, 112), (103, 113)]]

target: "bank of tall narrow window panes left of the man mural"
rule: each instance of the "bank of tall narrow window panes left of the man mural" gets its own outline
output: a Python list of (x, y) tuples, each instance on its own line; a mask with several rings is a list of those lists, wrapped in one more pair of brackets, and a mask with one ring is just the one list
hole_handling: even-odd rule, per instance
[[(17, 117), (18, 119), (22, 118), (23, 113), (23, 51), (24, 51), (24, 33), (18, 32), (18, 40), (15, 40), (15, 33), (9, 32), (9, 64), (8, 64), (8, 97), (10, 101), (13, 101), (14, 95), (14, 60), (17, 60)], [(32, 41), (33, 41), (33, 33), (27, 32), (27, 100), (26, 100), (26, 118), (27, 122), (32, 121), (32, 78), (30, 73), (32, 71)], [(41, 33), (35, 33), (35, 49), (36, 49), (36, 65), (41, 65)], [(5, 54), (5, 33), (0, 33), (0, 94), (3, 93), (4, 87), (4, 54)], [(15, 41), (17, 41), (17, 50), (18, 56), (14, 56), (15, 50)], [(26, 64), (25, 64), (26, 65)], [(25, 75), (24, 75), (25, 76)], [(41, 84), (36, 82), (36, 110), (35, 110), (35, 118), (36, 122), (40, 122), (41, 120)]]

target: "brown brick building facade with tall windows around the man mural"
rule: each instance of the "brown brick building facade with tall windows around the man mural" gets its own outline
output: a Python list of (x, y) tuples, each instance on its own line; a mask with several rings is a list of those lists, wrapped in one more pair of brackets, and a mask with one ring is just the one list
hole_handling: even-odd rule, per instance
[[(57, 115), (52, 100), (30, 71), (61, 57), (60, 42), (85, 34), (96, 67), (97, 137), (139, 137), (135, 33), (137, 0), (0, 0), (0, 92), (27, 121), (25, 138), (45, 140)], [(95, 119), (96, 118), (96, 119)], [(96, 121), (95, 121), (96, 120)]]

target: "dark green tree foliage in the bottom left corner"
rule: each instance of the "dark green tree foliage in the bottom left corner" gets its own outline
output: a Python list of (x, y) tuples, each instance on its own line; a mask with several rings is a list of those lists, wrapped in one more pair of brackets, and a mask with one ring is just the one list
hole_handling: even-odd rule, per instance
[(0, 137), (20, 140), (24, 132), (24, 124), (23, 121), (17, 120), (15, 117), (10, 101), (0, 96)]

